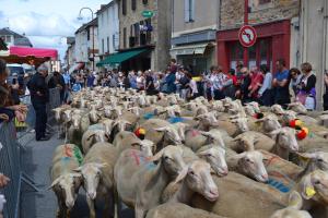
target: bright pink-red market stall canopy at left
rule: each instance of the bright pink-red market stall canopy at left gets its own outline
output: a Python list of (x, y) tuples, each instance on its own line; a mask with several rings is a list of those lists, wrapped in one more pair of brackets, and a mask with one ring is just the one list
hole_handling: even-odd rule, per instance
[(35, 57), (35, 58), (50, 58), (57, 60), (58, 51), (56, 49), (44, 49), (44, 48), (30, 48), (30, 47), (17, 47), (11, 46), (9, 48), (11, 56), (17, 57)]

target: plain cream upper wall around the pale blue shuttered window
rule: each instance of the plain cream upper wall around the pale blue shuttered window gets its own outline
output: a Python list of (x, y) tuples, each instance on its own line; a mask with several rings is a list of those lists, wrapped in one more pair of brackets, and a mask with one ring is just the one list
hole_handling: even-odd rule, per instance
[(185, 0), (174, 0), (173, 37), (190, 32), (216, 29), (220, 0), (196, 0), (195, 21), (185, 22)]

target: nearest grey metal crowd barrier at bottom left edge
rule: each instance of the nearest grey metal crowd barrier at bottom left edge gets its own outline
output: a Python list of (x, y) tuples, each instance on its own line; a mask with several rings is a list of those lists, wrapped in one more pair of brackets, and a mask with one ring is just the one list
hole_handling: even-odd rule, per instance
[(16, 141), (16, 131), (13, 122), (0, 124), (0, 172), (10, 178), (10, 183), (1, 194), (4, 194), (7, 203), (3, 207), (4, 218), (19, 217), (21, 195), (21, 150)]

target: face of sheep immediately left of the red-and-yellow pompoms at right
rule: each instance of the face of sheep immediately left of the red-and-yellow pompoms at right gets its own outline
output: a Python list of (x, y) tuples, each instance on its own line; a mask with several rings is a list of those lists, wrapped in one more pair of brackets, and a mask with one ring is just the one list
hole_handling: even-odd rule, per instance
[(270, 135), (276, 140), (277, 145), (289, 152), (298, 152), (298, 144), (295, 136), (295, 130), (291, 128), (282, 128), (272, 131)]

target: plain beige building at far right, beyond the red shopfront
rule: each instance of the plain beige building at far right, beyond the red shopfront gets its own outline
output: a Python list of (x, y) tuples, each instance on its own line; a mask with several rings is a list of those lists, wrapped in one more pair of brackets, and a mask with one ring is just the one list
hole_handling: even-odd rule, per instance
[(302, 0), (301, 62), (309, 62), (317, 76), (317, 109), (323, 106), (324, 74), (328, 72), (328, 1)]

